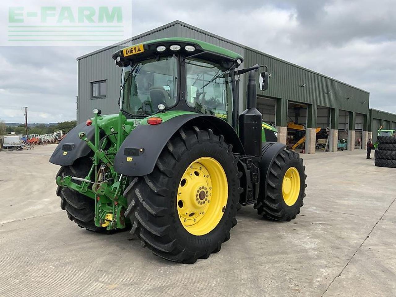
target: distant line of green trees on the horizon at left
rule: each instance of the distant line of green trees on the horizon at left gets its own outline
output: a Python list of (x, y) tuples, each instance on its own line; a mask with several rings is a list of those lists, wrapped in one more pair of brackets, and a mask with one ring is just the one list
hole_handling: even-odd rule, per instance
[[(46, 126), (45, 124), (39, 124), (34, 127), (28, 127), (28, 134), (47, 134), (55, 131), (62, 130), (63, 133), (68, 133), (71, 129), (76, 127), (76, 121), (61, 122), (56, 125)], [(4, 121), (0, 121), (0, 135), (7, 135), (8, 133), (15, 132), (15, 134), (26, 134), (25, 124), (21, 124), (17, 127), (6, 126)]]

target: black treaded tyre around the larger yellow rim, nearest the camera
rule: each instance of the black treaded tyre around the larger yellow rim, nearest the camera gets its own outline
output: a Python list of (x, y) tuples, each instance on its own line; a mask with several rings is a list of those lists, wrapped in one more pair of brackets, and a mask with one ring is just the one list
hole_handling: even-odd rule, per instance
[[(207, 229), (208, 232), (202, 235), (194, 235), (182, 224), (184, 218), (179, 208), (183, 206), (178, 201), (178, 188), (183, 185), (181, 178), (190, 168), (189, 164), (202, 157), (216, 160), (223, 168), (228, 197), (221, 208), (223, 214), (217, 225), (215, 223), (213, 229)], [(222, 135), (217, 136), (210, 129), (202, 131), (196, 127), (179, 129), (161, 152), (154, 171), (143, 177), (131, 178), (124, 192), (129, 204), (125, 215), (132, 222), (131, 233), (155, 255), (170, 261), (192, 264), (197, 259), (207, 259), (211, 253), (220, 251), (221, 244), (230, 239), (230, 229), (237, 223), (235, 216), (240, 208), (242, 188), (236, 164), (232, 146), (223, 141)], [(212, 175), (209, 168), (208, 172)], [(195, 198), (195, 191), (190, 193)], [(215, 200), (212, 202), (216, 203)]]

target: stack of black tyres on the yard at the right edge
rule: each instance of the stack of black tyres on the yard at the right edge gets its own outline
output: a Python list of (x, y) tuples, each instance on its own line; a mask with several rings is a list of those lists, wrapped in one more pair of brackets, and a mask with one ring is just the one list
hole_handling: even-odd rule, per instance
[(374, 164), (378, 167), (396, 168), (396, 137), (378, 136)]

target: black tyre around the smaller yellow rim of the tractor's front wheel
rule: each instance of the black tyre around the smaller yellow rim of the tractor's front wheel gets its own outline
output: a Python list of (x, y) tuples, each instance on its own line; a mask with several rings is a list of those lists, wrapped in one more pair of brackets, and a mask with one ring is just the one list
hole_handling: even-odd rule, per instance
[[(262, 156), (263, 158), (263, 156)], [(292, 200), (285, 199), (282, 191), (285, 182), (286, 173), (290, 168), (296, 175), (299, 175), (299, 192)], [(265, 177), (263, 177), (265, 178)], [(291, 221), (300, 213), (300, 208), (304, 205), (305, 197), (305, 166), (303, 159), (299, 158), (299, 154), (292, 150), (284, 148), (275, 157), (270, 168), (267, 180), (261, 180), (267, 183), (267, 193), (260, 193), (254, 208), (257, 209), (259, 215), (274, 221)], [(298, 195), (298, 196), (297, 196)], [(289, 204), (289, 205), (288, 205)]]

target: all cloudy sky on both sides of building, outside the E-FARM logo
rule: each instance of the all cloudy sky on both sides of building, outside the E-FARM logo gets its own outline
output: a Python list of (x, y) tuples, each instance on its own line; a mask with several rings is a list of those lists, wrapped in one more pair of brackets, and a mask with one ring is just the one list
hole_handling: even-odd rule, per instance
[[(133, 35), (179, 19), (365, 89), (371, 108), (396, 113), (394, 0), (197, 3), (133, 0)], [(28, 106), (29, 122), (74, 120), (76, 57), (95, 49), (0, 46), (0, 119), (23, 122)]]

